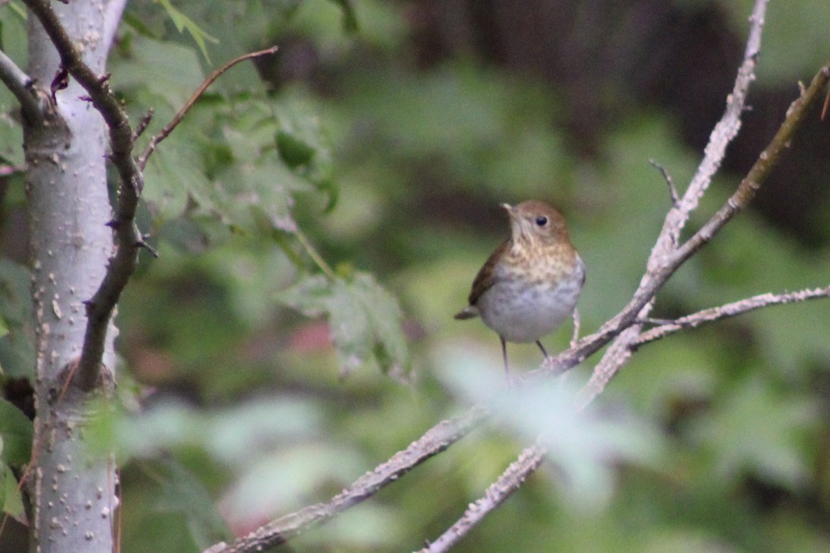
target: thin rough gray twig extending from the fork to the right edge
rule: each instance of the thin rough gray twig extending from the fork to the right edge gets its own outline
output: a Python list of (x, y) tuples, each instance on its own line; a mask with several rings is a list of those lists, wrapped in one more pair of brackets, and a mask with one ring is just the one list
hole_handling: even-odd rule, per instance
[(755, 309), (766, 308), (772, 305), (784, 305), (785, 303), (804, 302), (808, 299), (830, 298), (830, 286), (812, 290), (799, 290), (790, 293), (762, 293), (752, 298), (741, 299), (733, 303), (726, 303), (716, 308), (703, 309), (697, 313), (691, 313), (685, 317), (677, 318), (674, 321), (663, 323), (658, 327), (642, 332), (634, 342), (634, 347), (640, 347), (649, 342), (654, 342), (686, 328), (696, 328), (705, 323), (713, 323), (721, 319), (735, 317), (743, 313), (749, 313)]

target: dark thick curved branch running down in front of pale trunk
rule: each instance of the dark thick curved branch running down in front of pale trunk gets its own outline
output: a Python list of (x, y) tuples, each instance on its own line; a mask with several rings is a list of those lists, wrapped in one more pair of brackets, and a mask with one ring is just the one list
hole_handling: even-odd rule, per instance
[(86, 65), (48, 0), (23, 0), (29, 11), (41, 22), (46, 34), (61, 56), (61, 65), (86, 90), (90, 100), (107, 125), (110, 133), (110, 160), (118, 170), (120, 186), (115, 217), (110, 226), (115, 230), (115, 254), (110, 258), (100, 287), (86, 305), (86, 330), (81, 359), (76, 371), (77, 386), (92, 390), (100, 380), (100, 360), (115, 304), (138, 264), (141, 235), (135, 225), (135, 210), (144, 187), (144, 176), (135, 164), (133, 129), (125, 110), (110, 89), (105, 75), (97, 75)]

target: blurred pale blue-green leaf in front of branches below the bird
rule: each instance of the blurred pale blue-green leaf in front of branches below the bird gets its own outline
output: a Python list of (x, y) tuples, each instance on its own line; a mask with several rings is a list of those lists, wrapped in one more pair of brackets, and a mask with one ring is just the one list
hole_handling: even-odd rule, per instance
[(510, 435), (544, 445), (574, 507), (593, 510), (607, 504), (620, 463), (659, 466), (666, 444), (657, 429), (624, 410), (574, 410), (579, 387), (568, 381), (508, 387), (498, 358), (464, 348), (440, 359), (436, 374), (457, 395), (486, 405)]

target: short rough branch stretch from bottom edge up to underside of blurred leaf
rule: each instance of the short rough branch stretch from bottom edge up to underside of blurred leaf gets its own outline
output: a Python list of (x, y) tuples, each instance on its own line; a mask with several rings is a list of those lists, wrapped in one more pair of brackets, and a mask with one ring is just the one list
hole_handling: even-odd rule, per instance
[(427, 543), (418, 553), (443, 553), (456, 545), (462, 537), (466, 536), (476, 524), (481, 522), (487, 513), (499, 507), (505, 500), (518, 490), (525, 479), (539, 468), (544, 461), (545, 451), (542, 446), (536, 444), (526, 448), (504, 473), (492, 483), (484, 494), (484, 497), (471, 503), (466, 508), (464, 515), (455, 524), (447, 528), (436, 541)]

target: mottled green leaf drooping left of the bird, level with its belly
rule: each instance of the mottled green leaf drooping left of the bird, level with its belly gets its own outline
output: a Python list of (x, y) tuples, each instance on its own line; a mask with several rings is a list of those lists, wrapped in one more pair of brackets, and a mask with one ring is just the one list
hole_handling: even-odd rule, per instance
[(371, 274), (333, 280), (317, 274), (283, 290), (277, 299), (307, 317), (328, 318), (342, 375), (369, 360), (393, 376), (408, 373), (409, 353), (398, 301)]

